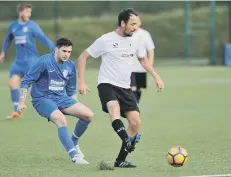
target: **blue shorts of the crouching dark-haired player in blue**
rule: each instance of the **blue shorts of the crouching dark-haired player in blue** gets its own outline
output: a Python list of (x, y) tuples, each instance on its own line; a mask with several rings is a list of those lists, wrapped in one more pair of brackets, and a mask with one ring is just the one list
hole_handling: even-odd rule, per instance
[(58, 100), (52, 100), (48, 98), (39, 98), (32, 100), (33, 107), (42, 116), (50, 120), (50, 115), (55, 110), (62, 110), (64, 108), (69, 108), (76, 104), (77, 101), (71, 97), (63, 96)]

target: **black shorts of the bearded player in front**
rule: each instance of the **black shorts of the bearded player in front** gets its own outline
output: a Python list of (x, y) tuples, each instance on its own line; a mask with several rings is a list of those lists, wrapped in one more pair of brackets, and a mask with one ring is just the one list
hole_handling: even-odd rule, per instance
[(120, 114), (126, 118), (127, 111), (138, 111), (139, 107), (132, 90), (114, 86), (108, 83), (98, 85), (99, 98), (104, 112), (108, 113), (107, 102), (117, 100), (120, 105)]

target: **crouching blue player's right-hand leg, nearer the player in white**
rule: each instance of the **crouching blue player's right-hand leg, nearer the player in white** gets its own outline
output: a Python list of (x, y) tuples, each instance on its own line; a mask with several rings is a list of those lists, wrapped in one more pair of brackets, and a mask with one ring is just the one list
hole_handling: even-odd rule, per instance
[(72, 133), (71, 139), (76, 147), (77, 154), (80, 157), (84, 158), (84, 154), (80, 150), (78, 142), (79, 138), (84, 134), (84, 132), (88, 128), (89, 123), (92, 121), (94, 116), (93, 112), (88, 107), (79, 102), (70, 106), (69, 108), (62, 109), (62, 112), (79, 118), (78, 122), (75, 125), (75, 129)]

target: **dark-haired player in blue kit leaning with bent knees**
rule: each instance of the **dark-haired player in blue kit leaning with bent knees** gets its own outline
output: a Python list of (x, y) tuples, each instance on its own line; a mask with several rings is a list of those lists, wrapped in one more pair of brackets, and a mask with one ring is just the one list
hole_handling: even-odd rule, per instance
[[(78, 146), (78, 140), (93, 118), (92, 111), (77, 101), (76, 67), (69, 59), (72, 42), (67, 38), (56, 41), (54, 53), (40, 57), (24, 76), (20, 88), (18, 112), (25, 106), (28, 88), (32, 85), (33, 107), (58, 127), (58, 137), (75, 164), (88, 164)], [(78, 117), (72, 137), (68, 135), (66, 115)]]

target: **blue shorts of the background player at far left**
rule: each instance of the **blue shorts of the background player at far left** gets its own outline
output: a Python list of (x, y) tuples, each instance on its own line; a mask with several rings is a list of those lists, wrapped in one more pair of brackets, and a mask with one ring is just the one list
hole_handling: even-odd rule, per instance
[[(17, 59), (15, 59), (17, 60)], [(29, 60), (27, 63), (18, 63), (18, 62), (13, 62), (10, 68), (10, 75), (9, 77), (11, 78), (13, 75), (17, 75), (21, 78), (23, 78), (29, 69), (37, 62), (37, 58), (34, 58), (33, 60)]]

